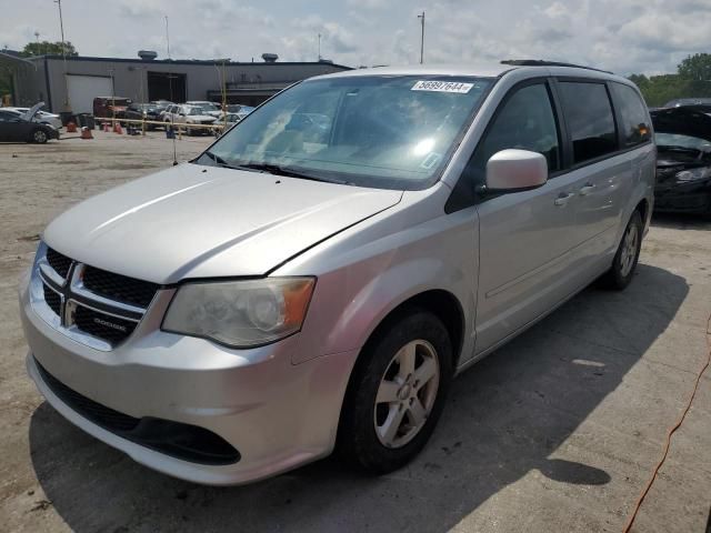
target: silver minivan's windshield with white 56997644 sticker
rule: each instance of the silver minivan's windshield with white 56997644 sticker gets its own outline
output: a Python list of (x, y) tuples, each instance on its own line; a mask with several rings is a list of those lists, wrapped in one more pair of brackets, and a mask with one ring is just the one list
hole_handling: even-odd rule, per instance
[(359, 76), (282, 92), (194, 162), (382, 189), (439, 179), (492, 79)]

